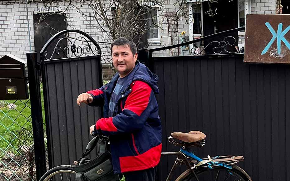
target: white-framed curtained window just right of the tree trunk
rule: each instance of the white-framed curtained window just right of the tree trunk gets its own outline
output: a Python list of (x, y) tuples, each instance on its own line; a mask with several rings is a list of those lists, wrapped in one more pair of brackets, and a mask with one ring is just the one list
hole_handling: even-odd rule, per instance
[(160, 32), (158, 26), (156, 25), (158, 23), (158, 15), (158, 8), (153, 8), (147, 14), (148, 43), (160, 42)]

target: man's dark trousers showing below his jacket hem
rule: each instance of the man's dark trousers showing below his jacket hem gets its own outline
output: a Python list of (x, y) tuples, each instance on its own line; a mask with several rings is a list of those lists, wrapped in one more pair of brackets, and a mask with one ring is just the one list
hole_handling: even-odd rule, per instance
[(123, 173), (126, 181), (155, 181), (157, 166), (146, 170)]

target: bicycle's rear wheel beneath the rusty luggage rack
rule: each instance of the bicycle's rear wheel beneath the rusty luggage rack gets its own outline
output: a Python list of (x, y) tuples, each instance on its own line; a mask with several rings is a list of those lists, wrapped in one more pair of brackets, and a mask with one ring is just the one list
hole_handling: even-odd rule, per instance
[[(232, 169), (213, 167), (213, 169), (199, 167), (194, 170), (199, 181), (252, 181), (250, 176), (240, 167), (233, 165)], [(197, 181), (191, 170), (183, 172), (175, 181)]]

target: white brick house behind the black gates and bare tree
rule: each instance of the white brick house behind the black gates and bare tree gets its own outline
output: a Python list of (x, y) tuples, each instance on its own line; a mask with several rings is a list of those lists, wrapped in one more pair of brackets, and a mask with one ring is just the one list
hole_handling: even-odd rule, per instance
[[(185, 35), (189, 36), (189, 40), (193, 40), (215, 32), (241, 27), (245, 25), (246, 14), (274, 14), (277, 7), (276, 0), (234, 0), (233, 2), (219, 0), (218, 3), (212, 5), (217, 7), (217, 16), (211, 18), (206, 15), (208, 11), (207, 1), (204, 0), (202, 3), (197, 3), (197, 1), (187, 0), (184, 11), (188, 12), (188, 17), (176, 18), (175, 11), (178, 9), (176, 0), (164, 1), (165, 8), (162, 9), (166, 11), (158, 11), (160, 7), (154, 7), (156, 11), (153, 13), (158, 16), (156, 21), (161, 22), (162, 28), (151, 27), (148, 37), (149, 48), (180, 43), (180, 33), (183, 31), (186, 32)], [(281, 1), (283, 5), (283, 0)], [(65, 3), (58, 3), (57, 6), (52, 5), (49, 11), (57, 12), (65, 6)], [(45, 7), (41, 1), (29, 3), (20, 0), (0, 1), (0, 56), (10, 53), (26, 60), (26, 52), (39, 48), (39, 46), (35, 48), (35, 36), (37, 35), (35, 35), (34, 21), (37, 13), (43, 11), (45, 11)], [(87, 14), (92, 13), (92, 10), (86, 5), (82, 7), (82, 11)], [(55, 17), (51, 17), (54, 21)], [(91, 26), (95, 23), (94, 20), (83, 17), (73, 9), (68, 11), (66, 18), (61, 21), (62, 24), (65, 24), (64, 29), (78, 29), (87, 32), (97, 42), (108, 39), (99, 29)], [(244, 43), (244, 35), (245, 32), (238, 32), (238, 43), (241, 45)], [(105, 46), (105, 44), (100, 43), (100, 46)], [(172, 51), (175, 52), (156, 52), (155, 56), (179, 53), (176, 52), (179, 50)]]

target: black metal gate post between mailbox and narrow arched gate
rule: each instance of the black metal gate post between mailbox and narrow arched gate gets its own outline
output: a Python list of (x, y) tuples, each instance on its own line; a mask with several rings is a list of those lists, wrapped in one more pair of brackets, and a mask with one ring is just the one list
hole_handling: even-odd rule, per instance
[(44, 131), (41, 109), (40, 82), (37, 68), (37, 52), (27, 53), (26, 57), (31, 105), (31, 119), (33, 128), (36, 180), (39, 180), (41, 176), (46, 172), (46, 160), (44, 150)]

